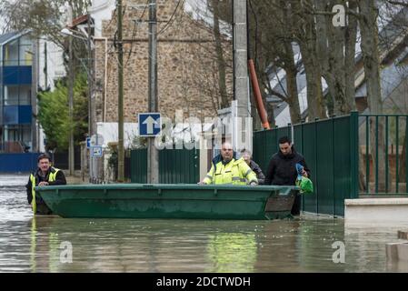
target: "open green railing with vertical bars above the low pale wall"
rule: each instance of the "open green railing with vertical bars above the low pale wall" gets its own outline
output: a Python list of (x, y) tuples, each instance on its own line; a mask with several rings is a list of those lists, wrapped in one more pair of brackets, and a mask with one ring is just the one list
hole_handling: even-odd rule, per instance
[(359, 115), (359, 124), (360, 195), (407, 196), (408, 115)]

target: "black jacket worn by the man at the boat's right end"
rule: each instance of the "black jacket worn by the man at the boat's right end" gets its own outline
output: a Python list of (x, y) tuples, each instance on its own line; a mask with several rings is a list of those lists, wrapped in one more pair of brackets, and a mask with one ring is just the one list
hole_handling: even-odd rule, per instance
[(304, 170), (310, 177), (304, 156), (296, 153), (292, 146), (292, 154), (284, 156), (281, 151), (272, 156), (269, 162), (264, 185), (294, 186), (297, 177), (296, 164), (304, 166)]

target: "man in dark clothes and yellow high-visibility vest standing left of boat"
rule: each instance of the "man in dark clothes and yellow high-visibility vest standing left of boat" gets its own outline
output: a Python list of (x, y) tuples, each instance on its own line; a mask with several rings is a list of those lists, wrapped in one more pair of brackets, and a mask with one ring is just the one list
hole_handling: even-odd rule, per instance
[(38, 168), (32, 173), (25, 186), (27, 189), (27, 200), (33, 208), (35, 214), (51, 215), (52, 211), (45, 205), (44, 200), (35, 196), (35, 186), (55, 186), (66, 185), (63, 171), (51, 166), (51, 158), (46, 154), (41, 154), (37, 158)]

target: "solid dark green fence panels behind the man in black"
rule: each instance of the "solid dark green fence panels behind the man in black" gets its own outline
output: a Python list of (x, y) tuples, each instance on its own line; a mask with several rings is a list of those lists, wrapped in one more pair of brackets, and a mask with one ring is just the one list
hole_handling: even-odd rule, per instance
[[(278, 151), (283, 135), (293, 138), (295, 150), (311, 170), (314, 192), (303, 196), (303, 210), (343, 216), (344, 199), (353, 198), (352, 148), (355, 146), (351, 116), (333, 117), (311, 123), (289, 125), (254, 133), (254, 160), (264, 171)], [(293, 133), (292, 133), (293, 131)]]

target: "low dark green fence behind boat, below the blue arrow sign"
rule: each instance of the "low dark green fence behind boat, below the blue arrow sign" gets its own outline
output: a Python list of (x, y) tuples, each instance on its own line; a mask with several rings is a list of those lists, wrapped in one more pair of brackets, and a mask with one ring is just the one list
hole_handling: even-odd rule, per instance
[[(196, 184), (200, 180), (198, 149), (159, 151), (160, 184)], [(147, 183), (147, 149), (131, 151), (131, 182)]]

